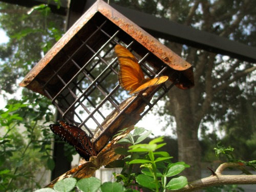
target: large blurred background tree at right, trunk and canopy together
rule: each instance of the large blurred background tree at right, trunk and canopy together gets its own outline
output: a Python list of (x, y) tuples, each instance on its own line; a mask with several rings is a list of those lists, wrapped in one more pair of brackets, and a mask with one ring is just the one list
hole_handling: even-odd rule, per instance
[[(249, 46), (256, 45), (256, 9), (252, 1), (116, 0), (115, 3)], [(164, 114), (169, 114), (169, 124), (176, 123), (179, 161), (191, 165), (185, 170), (188, 180), (201, 178), (199, 130), (205, 140), (208, 133), (223, 131), (224, 140), (244, 151), (240, 155), (247, 153), (246, 158), (255, 158), (255, 63), (168, 40), (163, 42), (194, 67), (195, 87), (186, 91), (172, 89), (164, 109)], [(247, 151), (250, 149), (252, 152)]]

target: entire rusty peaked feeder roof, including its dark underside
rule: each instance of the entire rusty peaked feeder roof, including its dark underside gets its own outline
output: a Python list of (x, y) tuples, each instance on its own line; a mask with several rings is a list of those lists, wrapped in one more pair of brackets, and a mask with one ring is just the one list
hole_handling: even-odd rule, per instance
[(101, 0), (97, 1), (77, 20), (77, 22), (66, 32), (66, 34), (62, 36), (62, 38), (53, 46), (53, 48), (26, 75), (23, 81), (19, 83), (19, 86), (26, 87), (32, 91), (45, 95), (45, 93), (42, 91), (40, 81), (46, 81), (47, 78), (51, 76), (51, 70), (48, 70), (49, 63), (54, 62), (54, 65), (58, 66), (58, 59), (61, 59), (61, 57), (57, 56), (57, 54), (61, 50), (72, 52), (72, 49), (77, 47), (72, 39), (74, 39), (77, 33), (84, 33), (82, 28), (90, 22), (92, 17), (95, 17), (97, 14), (101, 14), (108, 18), (120, 29), (134, 38), (139, 44), (161, 59), (170, 68), (181, 71), (182, 77), (176, 84), (178, 88), (189, 89), (194, 86), (193, 68), (190, 63), (186, 62), (179, 55), (161, 44), (156, 38), (145, 32), (143, 29), (131, 22), (131, 20), (127, 19), (125, 16)]

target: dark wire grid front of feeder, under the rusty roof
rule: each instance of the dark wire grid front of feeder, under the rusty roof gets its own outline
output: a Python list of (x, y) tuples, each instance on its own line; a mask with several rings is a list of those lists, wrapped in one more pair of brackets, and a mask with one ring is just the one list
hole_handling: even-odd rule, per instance
[[(96, 127), (102, 130), (101, 123), (106, 117), (113, 110), (121, 112), (120, 103), (130, 97), (118, 84), (119, 65), (114, 53), (115, 45), (128, 46), (139, 60), (144, 74), (150, 78), (164, 72), (172, 73), (172, 77), (178, 79), (179, 74), (166, 67), (160, 59), (108, 19), (92, 19), (89, 24), (89, 27), (85, 26), (74, 36), (72, 40), (75, 42), (69, 42), (72, 51), (68, 48), (60, 51), (59, 64), (50, 65), (52, 75), (43, 88), (63, 119), (86, 127), (93, 136), (90, 130)], [(147, 107), (141, 117), (172, 86), (167, 88), (161, 85), (164, 89), (151, 102), (145, 99)]]

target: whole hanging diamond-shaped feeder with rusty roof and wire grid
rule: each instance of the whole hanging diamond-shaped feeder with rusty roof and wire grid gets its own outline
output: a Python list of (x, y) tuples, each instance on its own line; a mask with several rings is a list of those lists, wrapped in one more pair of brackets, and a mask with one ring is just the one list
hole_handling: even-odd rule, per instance
[[(146, 76), (167, 75), (169, 81), (129, 96), (118, 84), (117, 44), (134, 54)], [(96, 150), (136, 124), (174, 85), (194, 86), (191, 65), (102, 1), (20, 83), (50, 98), (67, 122), (85, 127)]]

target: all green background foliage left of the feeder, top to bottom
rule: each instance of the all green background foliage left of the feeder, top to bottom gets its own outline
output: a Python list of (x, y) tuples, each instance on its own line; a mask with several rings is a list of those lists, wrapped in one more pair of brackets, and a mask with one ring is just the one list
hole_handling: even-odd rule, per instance
[(10, 38), (0, 45), (0, 93), (7, 102), (0, 110), (0, 190), (31, 191), (45, 184), (46, 167), (54, 168), (48, 126), (53, 108), (39, 94), (24, 89), (20, 95), (18, 82), (61, 37), (64, 18), (45, 5), (0, 7), (0, 27)]

